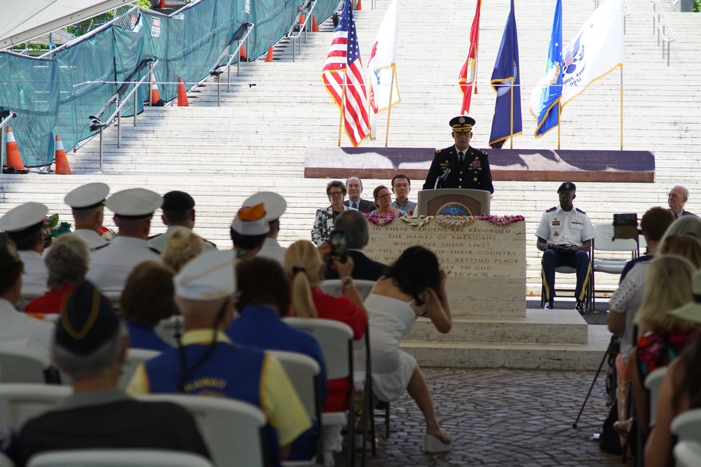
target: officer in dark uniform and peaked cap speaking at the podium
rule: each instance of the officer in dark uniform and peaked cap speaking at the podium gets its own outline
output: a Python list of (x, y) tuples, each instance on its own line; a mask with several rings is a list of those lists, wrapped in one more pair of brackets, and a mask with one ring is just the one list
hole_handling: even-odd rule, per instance
[(424, 190), (434, 188), (436, 179), (450, 169), (444, 179), (438, 182), (437, 188), (470, 188), (494, 193), (486, 152), (470, 146), (473, 125), (475, 119), (468, 116), (458, 116), (450, 120), (455, 145), (436, 151), (426, 176), (426, 183), (423, 183)]

